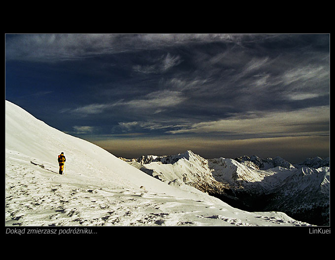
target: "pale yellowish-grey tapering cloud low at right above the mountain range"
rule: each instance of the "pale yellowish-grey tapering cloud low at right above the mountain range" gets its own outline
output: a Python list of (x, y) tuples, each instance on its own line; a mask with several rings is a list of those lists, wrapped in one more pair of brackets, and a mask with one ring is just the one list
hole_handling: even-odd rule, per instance
[(169, 131), (180, 133), (227, 133), (229, 135), (310, 135), (329, 134), (330, 108), (306, 108), (288, 112), (249, 113), (230, 118), (195, 123), (183, 129)]

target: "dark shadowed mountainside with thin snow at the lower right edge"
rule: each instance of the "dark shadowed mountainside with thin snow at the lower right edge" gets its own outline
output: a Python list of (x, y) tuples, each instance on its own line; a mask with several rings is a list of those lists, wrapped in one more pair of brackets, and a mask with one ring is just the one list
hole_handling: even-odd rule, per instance
[(330, 167), (294, 170), (271, 191), (264, 209), (273, 208), (318, 226), (329, 226)]

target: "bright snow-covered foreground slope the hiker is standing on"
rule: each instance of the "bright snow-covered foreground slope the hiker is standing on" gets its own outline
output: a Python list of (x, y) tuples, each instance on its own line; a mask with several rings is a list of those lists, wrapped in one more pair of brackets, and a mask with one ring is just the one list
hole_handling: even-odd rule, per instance
[(281, 212), (239, 210), (183, 182), (163, 182), (5, 101), (5, 226), (309, 224)]

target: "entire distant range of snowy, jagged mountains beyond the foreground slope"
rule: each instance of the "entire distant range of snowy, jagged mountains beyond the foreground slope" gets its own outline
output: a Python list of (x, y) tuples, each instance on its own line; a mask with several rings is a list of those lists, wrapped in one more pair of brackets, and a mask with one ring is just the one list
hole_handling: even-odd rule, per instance
[[(317, 157), (294, 166), (281, 157), (207, 160), (187, 151), (123, 160), (163, 182), (178, 180), (245, 210), (280, 210), (329, 225), (329, 158)], [(302, 167), (306, 164), (318, 168)]]

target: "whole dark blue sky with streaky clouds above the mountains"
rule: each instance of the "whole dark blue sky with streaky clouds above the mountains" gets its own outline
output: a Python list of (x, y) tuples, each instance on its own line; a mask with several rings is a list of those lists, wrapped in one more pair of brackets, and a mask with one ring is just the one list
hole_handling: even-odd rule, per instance
[(329, 34), (6, 34), (5, 84), (116, 156), (329, 156)]

